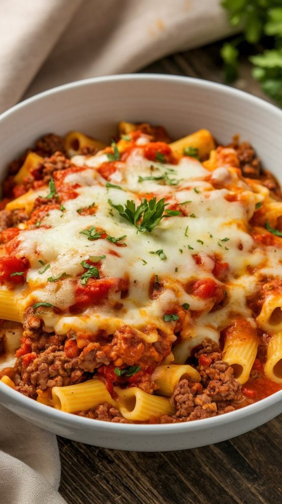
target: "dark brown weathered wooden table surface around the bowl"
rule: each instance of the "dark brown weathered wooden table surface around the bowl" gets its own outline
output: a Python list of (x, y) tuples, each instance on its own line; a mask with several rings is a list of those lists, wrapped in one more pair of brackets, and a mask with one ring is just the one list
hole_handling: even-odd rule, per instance
[[(142, 72), (223, 82), (220, 45), (165, 57)], [(235, 86), (267, 99), (247, 60)], [(282, 502), (282, 416), (224, 443), (178, 452), (121, 452), (58, 441), (60, 492), (68, 504)]]

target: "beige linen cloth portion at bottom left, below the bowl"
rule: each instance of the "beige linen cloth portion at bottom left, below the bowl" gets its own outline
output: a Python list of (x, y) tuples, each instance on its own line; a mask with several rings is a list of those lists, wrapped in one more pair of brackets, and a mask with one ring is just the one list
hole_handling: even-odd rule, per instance
[(56, 437), (0, 405), (1, 504), (65, 504)]

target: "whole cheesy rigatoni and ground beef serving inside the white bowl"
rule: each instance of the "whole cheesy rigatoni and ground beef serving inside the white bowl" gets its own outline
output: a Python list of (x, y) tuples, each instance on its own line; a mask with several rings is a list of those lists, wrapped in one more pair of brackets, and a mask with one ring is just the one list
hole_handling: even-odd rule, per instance
[(282, 198), (252, 147), (41, 138), (0, 211), (0, 380), (76, 415), (208, 418), (282, 388)]

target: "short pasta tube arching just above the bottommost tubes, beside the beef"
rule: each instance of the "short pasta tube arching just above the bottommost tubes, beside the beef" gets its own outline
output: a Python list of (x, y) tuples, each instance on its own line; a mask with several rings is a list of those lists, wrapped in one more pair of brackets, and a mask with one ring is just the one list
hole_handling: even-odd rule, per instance
[(192, 382), (201, 382), (201, 375), (197, 369), (187, 364), (157, 366), (152, 374), (152, 380), (159, 387), (157, 393), (168, 397), (173, 394), (174, 387), (183, 378), (187, 378)]

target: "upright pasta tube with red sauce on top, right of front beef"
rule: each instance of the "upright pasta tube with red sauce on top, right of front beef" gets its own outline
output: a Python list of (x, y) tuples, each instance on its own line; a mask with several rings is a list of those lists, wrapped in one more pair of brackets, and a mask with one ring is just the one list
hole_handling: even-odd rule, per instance
[(247, 324), (239, 331), (236, 330), (236, 326), (227, 331), (222, 358), (233, 367), (235, 377), (240, 384), (244, 384), (249, 379), (258, 343), (256, 332)]

